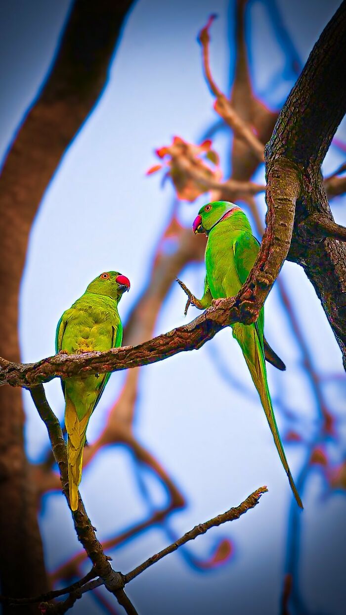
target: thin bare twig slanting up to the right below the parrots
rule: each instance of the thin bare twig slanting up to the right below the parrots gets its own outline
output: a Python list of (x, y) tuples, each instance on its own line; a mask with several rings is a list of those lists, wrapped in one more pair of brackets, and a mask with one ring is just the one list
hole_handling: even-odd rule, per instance
[(254, 506), (258, 504), (259, 498), (261, 498), (262, 494), (266, 493), (267, 491), (268, 490), (266, 486), (259, 487), (259, 489), (251, 493), (251, 495), (248, 496), (248, 498), (246, 498), (242, 502), (242, 504), (239, 504), (239, 506), (235, 508), (230, 508), (229, 510), (227, 510), (227, 512), (224, 512), (222, 515), (218, 515), (217, 517), (214, 517), (213, 519), (210, 519), (205, 523), (200, 523), (199, 525), (196, 525), (193, 530), (190, 530), (189, 532), (184, 534), (184, 536), (179, 538), (179, 540), (173, 542), (165, 549), (162, 549), (162, 551), (160, 551), (159, 553), (152, 555), (152, 557), (149, 557), (149, 559), (147, 559), (146, 561), (143, 561), (140, 566), (134, 568), (130, 573), (125, 574), (125, 583), (132, 581), (132, 579), (135, 579), (138, 574), (143, 573), (143, 570), (146, 570), (147, 568), (149, 568), (149, 566), (152, 566), (152, 564), (155, 564), (157, 561), (161, 560), (163, 557), (165, 557), (165, 555), (173, 553), (176, 549), (178, 549), (178, 547), (181, 547), (183, 544), (186, 544), (186, 542), (194, 540), (195, 538), (197, 538), (197, 536), (200, 536), (201, 534), (205, 534), (205, 532), (210, 530), (210, 528), (217, 527), (221, 525), (221, 523), (226, 523), (227, 521), (234, 521), (235, 519), (238, 519), (240, 515), (243, 515), (247, 510), (254, 508)]

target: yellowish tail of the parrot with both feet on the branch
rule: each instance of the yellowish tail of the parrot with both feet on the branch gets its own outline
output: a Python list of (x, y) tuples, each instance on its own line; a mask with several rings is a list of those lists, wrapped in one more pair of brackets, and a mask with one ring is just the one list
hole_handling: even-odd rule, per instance
[(82, 478), (83, 448), (88, 419), (87, 415), (79, 421), (76, 407), (66, 395), (65, 425), (68, 432), (68, 488), (71, 510), (77, 510), (78, 507), (78, 485)]

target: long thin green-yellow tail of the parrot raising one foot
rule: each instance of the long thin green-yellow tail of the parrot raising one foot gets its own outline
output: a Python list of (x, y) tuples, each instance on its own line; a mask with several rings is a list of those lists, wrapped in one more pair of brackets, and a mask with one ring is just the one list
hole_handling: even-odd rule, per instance
[[(251, 378), (253, 379), (254, 386), (256, 386), (259, 397), (261, 398), (262, 406), (265, 412), (265, 416), (267, 417), (267, 421), (269, 423), (270, 431), (272, 432), (274, 438), (275, 446), (277, 447), (281, 463), (283, 464), (283, 467), (285, 468), (286, 474), (288, 476), (289, 485), (291, 485), (291, 489), (293, 491), (294, 497), (296, 498), (298, 506), (303, 508), (302, 501), (299, 497), (296, 485), (294, 485), (294, 480), (291, 474), (291, 470), (288, 466), (285, 451), (283, 450), (283, 445), (278, 432), (277, 422), (275, 421), (272, 400), (270, 398), (270, 392), (267, 383), (267, 370), (265, 368), (264, 361), (264, 348), (261, 345), (258, 332), (256, 331), (254, 325), (238, 325), (238, 327), (246, 327), (246, 333), (244, 330), (241, 330), (241, 333), (245, 333), (247, 338), (246, 346), (244, 345), (243, 335), (238, 335), (236, 327), (234, 327), (234, 336), (242, 347), (246, 363), (250, 370)], [(248, 339), (248, 336), (251, 336), (251, 339)]]

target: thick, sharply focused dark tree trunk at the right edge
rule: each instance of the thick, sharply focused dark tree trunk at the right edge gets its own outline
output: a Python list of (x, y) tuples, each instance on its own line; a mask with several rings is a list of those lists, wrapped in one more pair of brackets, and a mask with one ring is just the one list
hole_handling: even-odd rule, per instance
[[(309, 216), (333, 220), (321, 182), (320, 167), (332, 137), (346, 113), (346, 2), (342, 2), (318, 39), (301, 76), (281, 110), (265, 148), (267, 192), (278, 198), (278, 161), (285, 176), (296, 169), (300, 196), (296, 202), (288, 258), (304, 268), (339, 343), (346, 369), (346, 244), (324, 238)], [(282, 189), (282, 182), (281, 182)], [(285, 192), (285, 189), (284, 189)], [(297, 288), (297, 293), (299, 289)]]

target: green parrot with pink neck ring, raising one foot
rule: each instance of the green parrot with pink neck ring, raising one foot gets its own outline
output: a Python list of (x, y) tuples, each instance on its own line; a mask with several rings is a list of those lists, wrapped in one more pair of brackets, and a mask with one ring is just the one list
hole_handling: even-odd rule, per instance
[[(208, 237), (205, 250), (206, 277), (202, 299), (195, 298), (186, 287), (184, 290), (189, 295), (187, 307), (191, 302), (199, 309), (206, 309), (211, 304), (218, 305), (222, 298), (237, 295), (253, 268), (259, 252), (259, 243), (253, 237), (245, 213), (240, 207), (224, 200), (214, 201), (201, 207), (199, 215), (195, 218), (193, 229), (195, 233), (205, 233)], [(265, 341), (263, 330), (263, 308), (254, 324), (235, 323), (232, 325), (233, 336), (240, 344), (254, 386), (261, 398), (278, 454), (288, 475), (289, 484), (297, 503), (302, 508), (301, 498), (294, 485), (275, 421), (267, 383), (265, 359), (281, 370), (285, 370), (285, 365)]]

